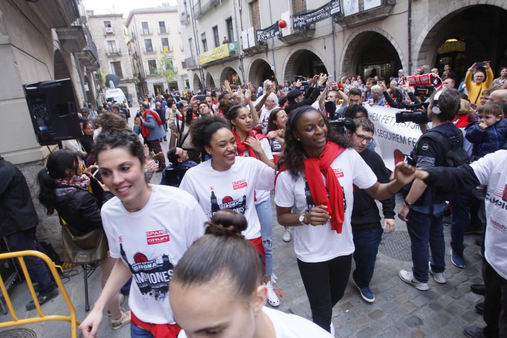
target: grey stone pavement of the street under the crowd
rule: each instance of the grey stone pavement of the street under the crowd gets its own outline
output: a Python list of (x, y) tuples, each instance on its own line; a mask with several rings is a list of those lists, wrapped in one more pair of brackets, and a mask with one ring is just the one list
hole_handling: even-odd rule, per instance
[[(164, 142), (165, 143), (165, 142)], [(166, 145), (165, 145), (166, 147)], [(165, 148), (164, 147), (164, 148)], [(40, 170), (37, 166), (23, 168), (22, 171), (29, 180), (29, 186), (33, 188), (33, 180), (29, 177)], [(160, 174), (155, 174), (153, 183), (160, 181)], [(32, 191), (32, 196), (37, 196)], [(397, 208), (402, 203), (397, 200)], [(397, 210), (396, 208), (396, 210)], [(39, 209), (39, 208), (38, 208)], [(40, 211), (40, 210), (39, 210)], [(41, 212), (39, 212), (41, 215)], [(283, 291), (281, 304), (278, 310), (294, 313), (311, 320), (311, 312), (303, 282), (297, 267), (293, 242), (282, 241), (283, 227), (276, 223), (276, 215), (273, 208), (273, 271), (278, 277), (276, 287)], [(54, 219), (45, 217), (43, 225), (38, 228), (38, 235), (50, 239), (55, 246), (59, 239), (58, 228), (54, 225)], [(49, 224), (49, 225), (48, 225)], [(396, 219), (396, 231), (406, 232), (405, 223)], [(333, 309), (333, 323), (337, 337), (461, 337), (465, 326), (484, 326), (482, 318), (475, 313), (474, 307), (482, 301), (482, 297), (470, 292), (470, 285), (482, 283), (480, 275), (481, 256), (479, 247), (474, 244), (478, 236), (465, 236), (465, 269), (458, 269), (451, 264), (449, 256), (450, 228), (444, 227), (446, 248), (446, 275), (447, 284), (437, 284), (430, 277), (429, 291), (419, 291), (413, 286), (400, 280), (400, 269), (408, 270), (412, 264), (410, 261), (397, 260), (382, 252), (377, 256), (375, 274), (371, 283), (376, 301), (366, 303), (360, 298), (357, 289), (349, 279), (349, 285), (343, 299)], [(401, 235), (401, 234), (400, 234)], [(394, 237), (384, 235), (384, 245), (389, 244)], [(402, 243), (403, 244), (403, 243)], [(395, 248), (396, 249), (396, 248)], [(407, 248), (400, 248), (406, 251)], [(385, 251), (385, 250), (384, 250)], [(405, 252), (407, 253), (407, 252)], [(408, 252), (410, 257), (410, 252)], [(352, 264), (352, 269), (354, 265)], [(65, 287), (77, 312), (78, 319), (86, 317), (84, 311), (83, 272), (81, 268), (74, 268), (77, 275), (64, 280)], [(88, 279), (89, 299), (93, 306), (95, 299), (100, 293), (100, 269)], [(17, 283), (9, 292), (13, 299), (15, 309), (20, 318), (36, 316), (36, 311), (26, 312), (24, 305), (31, 299), (27, 292), (26, 284)], [(128, 298), (127, 298), (128, 299)], [(128, 308), (127, 299), (123, 303)], [(68, 314), (63, 297), (58, 296), (43, 306), (45, 314)], [(11, 320), (9, 315), (0, 313), (0, 322)], [(70, 324), (65, 322), (45, 322), (26, 325), (33, 329), (38, 337), (67, 337), (69, 336)], [(0, 329), (0, 337), (5, 329)], [(126, 337), (130, 336), (130, 327), (124, 326), (119, 330), (113, 330), (104, 317), (99, 329), (101, 337)]]

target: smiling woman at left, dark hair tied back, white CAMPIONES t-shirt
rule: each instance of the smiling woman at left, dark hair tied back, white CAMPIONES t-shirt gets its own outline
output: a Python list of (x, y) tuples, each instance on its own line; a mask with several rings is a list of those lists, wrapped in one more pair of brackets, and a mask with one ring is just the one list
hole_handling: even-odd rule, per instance
[(96, 337), (104, 305), (132, 276), (131, 337), (176, 338), (168, 299), (172, 271), (204, 234), (207, 218), (190, 194), (146, 182), (143, 147), (132, 131), (102, 132), (95, 154), (104, 189), (115, 195), (102, 206), (103, 228), (111, 257), (121, 259), (80, 325), (83, 336)]

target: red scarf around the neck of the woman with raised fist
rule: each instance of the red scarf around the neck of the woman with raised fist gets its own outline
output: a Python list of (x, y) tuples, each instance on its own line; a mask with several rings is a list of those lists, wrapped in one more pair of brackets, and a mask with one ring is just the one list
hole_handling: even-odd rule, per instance
[[(324, 151), (318, 159), (309, 158), (305, 159), (305, 175), (310, 193), (312, 195), (315, 205), (327, 205), (328, 211), (331, 214), (331, 230), (336, 231), (338, 234), (342, 233), (343, 220), (345, 219), (345, 208), (343, 205), (343, 190), (338, 178), (336, 178), (331, 164), (333, 161), (345, 151), (345, 148), (328, 141), (325, 144)], [(288, 169), (287, 166), (282, 166), (277, 173)], [(328, 185), (328, 192), (325, 190), (324, 180), (322, 173), (325, 176), (325, 181)], [(275, 178), (276, 184), (276, 178)]]

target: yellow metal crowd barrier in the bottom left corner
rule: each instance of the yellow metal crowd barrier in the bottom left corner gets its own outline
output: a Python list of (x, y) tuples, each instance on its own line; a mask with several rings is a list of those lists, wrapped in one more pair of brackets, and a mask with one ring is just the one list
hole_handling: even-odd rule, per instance
[[(53, 278), (55, 279), (56, 284), (58, 285), (58, 289), (60, 290), (60, 293), (63, 296), (63, 299), (65, 300), (65, 304), (67, 304), (67, 307), (70, 311), (70, 316), (60, 316), (60, 315), (45, 316), (44, 315), (44, 313), (41, 310), (41, 305), (39, 304), (39, 299), (37, 298), (37, 294), (35, 293), (35, 290), (33, 289), (30, 275), (28, 274), (28, 270), (26, 269), (26, 264), (23, 259), (24, 256), (39, 257), (42, 260), (44, 260), (44, 262), (48, 265), (49, 269), (51, 270), (51, 273), (53, 274)], [(71, 337), (76, 338), (77, 325), (81, 324), (81, 323), (76, 319), (76, 311), (74, 310), (74, 306), (72, 305), (72, 302), (70, 302), (70, 298), (67, 294), (67, 290), (65, 290), (65, 286), (63, 286), (60, 276), (58, 275), (58, 272), (56, 271), (55, 264), (51, 260), (51, 258), (46, 256), (44, 253), (42, 253), (40, 251), (35, 251), (35, 250), (7, 252), (7, 253), (0, 254), (0, 259), (9, 259), (9, 258), (15, 258), (15, 257), (17, 257), (19, 259), (19, 264), (21, 266), (21, 270), (23, 271), (23, 275), (25, 276), (26, 284), (28, 285), (28, 289), (30, 290), (30, 294), (33, 298), (33, 304), (35, 305), (35, 308), (37, 309), (37, 313), (39, 314), (39, 317), (18, 319), (18, 317), (16, 316), (16, 313), (14, 312), (14, 308), (11, 303), (11, 298), (9, 297), (9, 294), (7, 293), (7, 289), (5, 287), (4, 280), (2, 279), (2, 276), (0, 276), (0, 290), (2, 290), (2, 293), (4, 294), (7, 308), (9, 309), (9, 312), (11, 313), (11, 317), (12, 317), (12, 321), (0, 323), (0, 328), (15, 326), (15, 325), (38, 323), (38, 322), (44, 322), (44, 321), (48, 321), (48, 320), (62, 320), (62, 321), (70, 322), (71, 329), (72, 329)]]

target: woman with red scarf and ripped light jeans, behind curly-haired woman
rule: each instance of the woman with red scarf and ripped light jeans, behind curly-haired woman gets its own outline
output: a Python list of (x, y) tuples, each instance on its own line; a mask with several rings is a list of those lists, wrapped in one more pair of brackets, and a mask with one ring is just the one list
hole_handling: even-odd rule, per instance
[[(269, 138), (252, 130), (252, 114), (243, 105), (232, 106), (226, 114), (231, 124), (232, 133), (236, 139), (236, 155), (241, 157), (252, 157), (260, 160), (270, 168), (275, 168)], [(271, 196), (269, 191), (256, 190), (254, 204), (261, 223), (261, 237), (266, 255), (266, 271), (264, 283), (268, 289), (268, 303), (273, 307), (280, 305), (280, 299), (273, 290), (273, 210), (271, 207)]]

